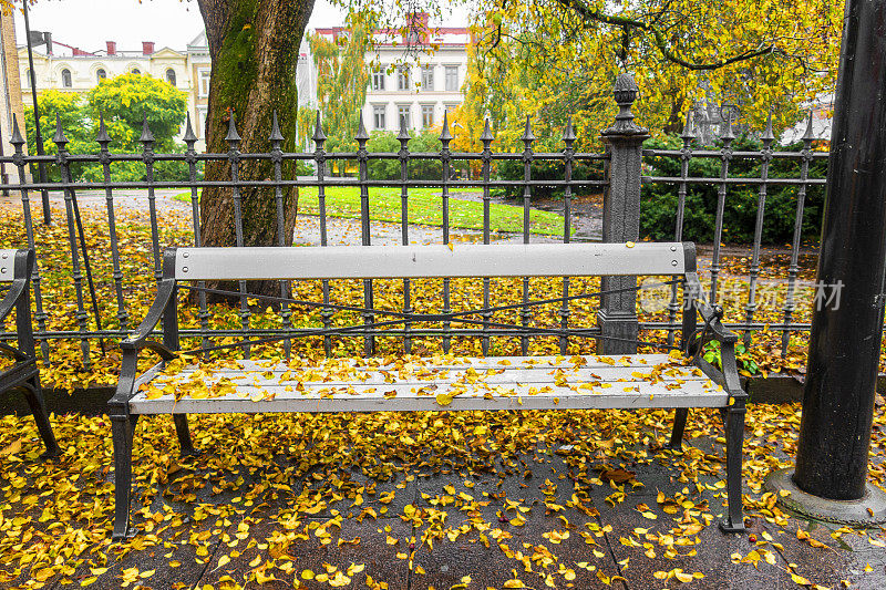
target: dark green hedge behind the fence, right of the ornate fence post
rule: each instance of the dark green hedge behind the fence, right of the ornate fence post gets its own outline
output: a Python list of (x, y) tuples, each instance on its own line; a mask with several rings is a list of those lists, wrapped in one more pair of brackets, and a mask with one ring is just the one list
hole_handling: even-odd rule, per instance
[[(719, 149), (722, 144), (711, 148)], [(646, 148), (679, 149), (682, 141), (668, 136), (649, 139)], [(742, 136), (732, 143), (734, 151), (756, 151), (762, 148), (759, 139)], [(802, 142), (787, 146), (775, 146), (781, 152), (800, 152)], [(720, 176), (720, 158), (692, 158), (689, 176), (715, 178)], [(800, 161), (773, 159), (770, 164), (770, 178), (800, 178)], [(824, 178), (827, 162), (813, 161), (810, 164), (811, 178)], [(645, 159), (645, 176), (679, 176), (680, 158), (657, 156)], [(733, 158), (729, 165), (730, 177), (760, 177), (759, 159)], [(763, 218), (763, 244), (790, 244), (796, 216), (799, 186), (767, 186), (766, 206)], [(672, 240), (677, 220), (676, 184), (643, 184), (640, 201), (640, 235), (652, 240)], [(714, 237), (717, 216), (717, 185), (688, 185), (682, 239), (711, 242)], [(729, 185), (723, 209), (722, 241), (750, 244), (754, 238), (759, 199), (759, 186)], [(802, 238), (818, 240), (822, 229), (824, 187), (810, 186), (806, 190), (803, 214)]]

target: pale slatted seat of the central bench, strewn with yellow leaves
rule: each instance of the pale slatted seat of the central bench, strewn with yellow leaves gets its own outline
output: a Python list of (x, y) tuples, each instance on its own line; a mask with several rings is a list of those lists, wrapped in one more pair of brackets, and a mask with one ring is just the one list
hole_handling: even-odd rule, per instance
[(431, 361), (398, 366), (382, 359), (333, 359), (292, 368), (236, 360), (172, 375), (157, 364), (140, 380), (130, 407), (136, 414), (251, 414), (724, 407), (729, 401), (699, 368), (667, 354)]

